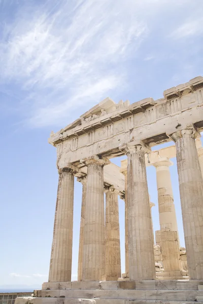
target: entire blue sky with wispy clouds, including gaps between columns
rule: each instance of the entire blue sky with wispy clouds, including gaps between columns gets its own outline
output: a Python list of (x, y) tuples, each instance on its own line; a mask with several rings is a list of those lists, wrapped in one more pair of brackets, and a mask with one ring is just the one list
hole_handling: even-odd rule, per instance
[[(202, 75), (202, 9), (202, 0), (0, 0), (0, 288), (40, 288), (47, 280), (58, 183), (50, 132), (107, 96), (131, 103), (157, 99)], [(147, 174), (157, 230), (155, 168)], [(73, 280), (81, 189), (76, 182)], [(119, 208), (124, 247), (122, 201)], [(121, 253), (124, 272), (124, 248)]]

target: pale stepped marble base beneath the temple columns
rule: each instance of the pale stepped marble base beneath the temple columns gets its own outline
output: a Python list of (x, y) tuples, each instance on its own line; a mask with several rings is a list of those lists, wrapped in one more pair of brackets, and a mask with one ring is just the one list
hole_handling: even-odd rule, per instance
[[(71, 282), (70, 282), (71, 283)], [(52, 283), (53, 284), (53, 283)], [(61, 284), (61, 283), (59, 283)], [(72, 282), (71, 289), (43, 289), (34, 292), (35, 297), (17, 298), (17, 304), (43, 303), (88, 303), (123, 304), (130, 303), (164, 303), (191, 304), (203, 296), (202, 280), (192, 281), (106, 281), (106, 282)], [(49, 285), (50, 286), (50, 285)], [(63, 284), (64, 286), (64, 284)], [(38, 297), (36, 297), (38, 296)], [(41, 297), (40, 297), (41, 296)], [(79, 299), (82, 299), (80, 301)], [(83, 301), (84, 299), (84, 301)], [(91, 303), (91, 302), (90, 302)], [(197, 302), (198, 303), (198, 302)]]

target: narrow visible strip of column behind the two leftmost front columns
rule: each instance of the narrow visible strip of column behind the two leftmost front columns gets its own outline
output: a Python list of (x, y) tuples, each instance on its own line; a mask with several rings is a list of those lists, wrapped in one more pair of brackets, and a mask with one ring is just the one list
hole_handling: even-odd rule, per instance
[(78, 281), (82, 281), (82, 267), (83, 267), (83, 236), (84, 236), (84, 223), (85, 223), (85, 202), (86, 202), (86, 186), (87, 176), (78, 177), (77, 179), (82, 183), (82, 206), (81, 206), (81, 220), (80, 220), (80, 241), (79, 241), (79, 254), (78, 254)]

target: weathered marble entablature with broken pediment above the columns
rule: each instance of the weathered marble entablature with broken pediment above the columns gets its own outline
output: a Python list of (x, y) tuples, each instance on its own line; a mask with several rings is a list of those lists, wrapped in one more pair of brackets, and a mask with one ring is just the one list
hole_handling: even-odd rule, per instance
[[(188, 92), (188, 87), (192, 91)], [(143, 140), (149, 146), (171, 141), (168, 134), (191, 124), (202, 129), (201, 87), (203, 78), (197, 77), (176, 90), (164, 91), (166, 97), (156, 101), (146, 98), (132, 104), (128, 100), (115, 104), (106, 98), (74, 123), (51, 134), (49, 142), (60, 146), (57, 148), (59, 166), (65, 162), (78, 163), (89, 155), (121, 156), (123, 151), (119, 146), (134, 140)], [(187, 93), (171, 98), (175, 91)]]

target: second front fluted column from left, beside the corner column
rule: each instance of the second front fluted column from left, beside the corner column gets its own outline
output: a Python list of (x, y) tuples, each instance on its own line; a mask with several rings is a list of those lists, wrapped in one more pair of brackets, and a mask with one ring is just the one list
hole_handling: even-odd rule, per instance
[(81, 160), (87, 166), (82, 281), (105, 280), (104, 166), (97, 156)]

